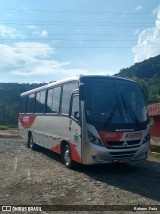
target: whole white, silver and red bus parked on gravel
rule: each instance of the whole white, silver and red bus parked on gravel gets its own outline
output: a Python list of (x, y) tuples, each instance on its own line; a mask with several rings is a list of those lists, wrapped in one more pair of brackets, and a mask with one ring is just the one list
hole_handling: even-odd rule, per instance
[(139, 85), (109, 76), (69, 78), (21, 94), (20, 134), (74, 162), (144, 160), (150, 126)]

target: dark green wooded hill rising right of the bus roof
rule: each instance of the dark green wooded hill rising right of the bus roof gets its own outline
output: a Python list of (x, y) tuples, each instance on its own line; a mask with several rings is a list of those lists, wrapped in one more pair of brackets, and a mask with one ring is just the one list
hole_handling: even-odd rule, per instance
[(160, 55), (121, 69), (115, 76), (137, 81), (149, 104), (160, 102)]

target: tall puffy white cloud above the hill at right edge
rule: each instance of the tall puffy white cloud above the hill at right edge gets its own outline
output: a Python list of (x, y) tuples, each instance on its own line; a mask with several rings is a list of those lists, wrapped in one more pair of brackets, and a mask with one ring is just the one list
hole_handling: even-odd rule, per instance
[(160, 8), (157, 11), (155, 27), (143, 30), (139, 34), (138, 44), (132, 48), (134, 62), (141, 62), (160, 54)]

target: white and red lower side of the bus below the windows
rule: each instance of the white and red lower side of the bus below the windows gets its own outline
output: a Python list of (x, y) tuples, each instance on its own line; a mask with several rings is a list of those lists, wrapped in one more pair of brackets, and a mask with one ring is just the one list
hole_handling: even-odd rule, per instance
[(81, 163), (81, 128), (74, 120), (66, 116), (36, 115), (33, 121), (33, 115), (21, 114), (19, 129), (20, 135), (26, 140), (28, 138), (26, 133), (31, 131), (35, 144), (59, 154), (61, 142), (68, 142), (72, 159)]

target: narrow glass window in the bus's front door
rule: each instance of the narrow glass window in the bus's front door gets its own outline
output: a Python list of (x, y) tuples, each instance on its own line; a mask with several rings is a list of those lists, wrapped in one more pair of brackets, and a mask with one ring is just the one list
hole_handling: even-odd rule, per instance
[(78, 95), (75, 95), (72, 98), (71, 117), (73, 117), (76, 120), (80, 119), (80, 115), (79, 115), (79, 96)]

